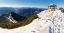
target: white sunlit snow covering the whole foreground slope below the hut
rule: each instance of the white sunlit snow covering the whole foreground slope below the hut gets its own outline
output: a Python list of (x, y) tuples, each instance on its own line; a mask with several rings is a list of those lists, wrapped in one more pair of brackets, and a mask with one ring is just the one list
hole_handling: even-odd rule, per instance
[[(58, 33), (58, 31), (60, 33), (64, 33), (64, 15), (60, 12), (60, 10), (56, 10), (51, 17), (48, 16), (49, 14), (48, 10), (44, 10), (41, 13), (37, 14), (38, 18), (34, 19), (30, 24), (14, 29), (0, 28), (0, 33)], [(60, 30), (58, 30), (57, 28)]]

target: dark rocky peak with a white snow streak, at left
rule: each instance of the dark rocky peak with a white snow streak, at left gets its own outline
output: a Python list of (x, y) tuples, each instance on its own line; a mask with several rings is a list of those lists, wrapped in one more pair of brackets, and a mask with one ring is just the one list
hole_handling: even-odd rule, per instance
[(25, 17), (20, 16), (14, 12), (9, 12), (7, 14), (2, 14), (0, 16), (0, 24), (3, 23), (16, 23), (17, 21), (22, 21), (24, 20)]

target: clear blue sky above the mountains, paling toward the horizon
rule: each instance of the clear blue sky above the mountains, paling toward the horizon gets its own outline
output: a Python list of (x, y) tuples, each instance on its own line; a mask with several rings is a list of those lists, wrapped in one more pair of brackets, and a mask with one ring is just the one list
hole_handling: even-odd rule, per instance
[(49, 4), (64, 7), (64, 0), (0, 0), (0, 7), (40, 7), (47, 8)]

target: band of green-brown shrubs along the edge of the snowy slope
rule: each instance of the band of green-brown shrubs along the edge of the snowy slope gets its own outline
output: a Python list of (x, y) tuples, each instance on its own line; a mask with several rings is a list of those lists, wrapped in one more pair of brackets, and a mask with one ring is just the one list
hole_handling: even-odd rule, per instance
[(20, 27), (20, 26), (25, 26), (29, 23), (31, 23), (34, 19), (38, 18), (37, 14), (31, 16), (30, 18), (28, 19), (25, 19), (23, 21), (19, 21), (17, 23), (11, 23), (11, 24), (0, 24), (0, 27), (1, 28), (8, 28), (8, 29), (13, 29), (13, 28), (17, 28), (17, 27)]

